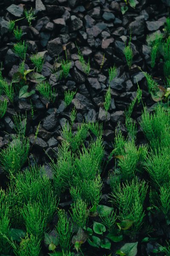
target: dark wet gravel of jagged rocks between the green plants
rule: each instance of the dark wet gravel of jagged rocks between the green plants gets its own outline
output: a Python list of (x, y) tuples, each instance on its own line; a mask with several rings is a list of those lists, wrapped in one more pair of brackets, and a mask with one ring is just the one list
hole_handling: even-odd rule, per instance
[[(27, 20), (18, 21), (23, 29), (22, 40), (28, 44), (26, 54), (26, 68), (34, 68), (29, 60), (32, 53), (41, 52), (45, 58), (42, 75), (57, 89), (57, 100), (46, 108), (45, 100), (36, 91), (34, 95), (25, 99), (14, 97), (14, 104), (8, 104), (8, 109), (0, 120), (0, 148), (8, 143), (8, 134), (14, 134), (12, 116), (15, 112), (27, 112), (27, 136), (34, 143), (37, 125), (40, 129), (29, 155), (30, 164), (45, 165), (50, 175), (49, 157), (56, 157), (57, 146), (62, 140), (62, 126), (69, 120), (73, 107), (77, 110), (74, 130), (85, 121), (103, 123), (103, 140), (106, 149), (105, 157), (111, 152), (115, 129), (127, 134), (125, 128), (124, 111), (136, 96), (137, 83), (142, 89), (143, 103), (150, 108), (155, 102), (151, 99), (144, 74), (147, 71), (157, 77), (159, 84), (164, 84), (161, 63), (150, 68), (150, 47), (147, 46), (146, 36), (153, 32), (162, 32), (164, 22), (168, 16), (168, 0), (136, 0), (136, 8), (129, 8), (122, 15), (123, 0), (1, 0), (0, 2), (0, 62), (2, 62), (3, 76), (11, 81), (17, 72), (20, 58), (12, 51), (16, 42), (14, 35), (8, 32), (8, 21), (23, 17), (24, 8), (31, 7), (36, 11), (36, 19), (28, 26)], [(123, 49), (132, 35), (133, 66), (129, 70)], [(77, 46), (86, 60), (90, 59), (91, 70), (88, 76), (82, 70), (78, 60)], [(51, 73), (55, 58), (58, 56), (72, 61), (71, 70), (66, 79), (58, 81)], [(118, 73), (111, 82), (111, 108), (108, 115), (103, 107), (104, 96), (109, 85), (108, 68), (116, 65)], [(101, 67), (102, 65), (102, 67)], [(35, 84), (30, 83), (30, 89)], [(77, 90), (71, 105), (65, 108), (64, 91)], [(31, 100), (30, 100), (31, 99)], [(31, 119), (31, 106), (34, 106), (34, 118)], [(133, 119), (139, 120), (142, 104), (133, 111)], [(141, 128), (137, 130), (137, 142), (143, 143)], [(47, 156), (48, 154), (48, 156)], [(27, 163), (28, 164), (28, 163)], [(108, 169), (114, 169), (113, 163)], [(105, 195), (108, 193), (108, 170), (103, 175), (104, 189), (102, 204), (107, 204)], [(0, 186), (6, 187), (6, 175), (0, 171)], [(106, 198), (106, 199), (105, 199)], [(67, 207), (70, 198), (65, 193), (60, 200), (60, 206)], [(150, 217), (151, 218), (151, 217)], [(164, 230), (159, 223), (154, 224), (154, 237), (160, 237), (159, 243), (170, 238), (170, 230)], [(166, 227), (167, 228), (167, 227)], [(166, 233), (166, 236), (164, 236)], [(138, 255), (150, 255), (155, 242), (141, 245)], [(88, 254), (87, 254), (88, 255)], [(95, 254), (93, 254), (95, 255)], [(98, 254), (99, 255), (99, 254)]]

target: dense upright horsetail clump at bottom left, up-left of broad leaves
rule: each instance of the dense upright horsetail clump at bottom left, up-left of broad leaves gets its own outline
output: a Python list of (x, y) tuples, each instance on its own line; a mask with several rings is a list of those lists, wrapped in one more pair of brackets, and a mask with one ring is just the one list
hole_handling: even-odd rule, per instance
[(42, 239), (47, 223), (46, 215), (42, 212), (40, 204), (37, 202), (29, 202), (27, 205), (25, 204), (23, 206), (21, 213), (27, 232), (37, 236), (38, 239)]

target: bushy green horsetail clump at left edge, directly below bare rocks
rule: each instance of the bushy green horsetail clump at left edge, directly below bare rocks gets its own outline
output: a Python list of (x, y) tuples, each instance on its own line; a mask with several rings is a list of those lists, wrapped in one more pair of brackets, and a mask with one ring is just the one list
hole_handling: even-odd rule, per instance
[(0, 151), (0, 163), (3, 170), (9, 174), (20, 171), (26, 162), (29, 152), (29, 140), (25, 137), (13, 137), (12, 143)]

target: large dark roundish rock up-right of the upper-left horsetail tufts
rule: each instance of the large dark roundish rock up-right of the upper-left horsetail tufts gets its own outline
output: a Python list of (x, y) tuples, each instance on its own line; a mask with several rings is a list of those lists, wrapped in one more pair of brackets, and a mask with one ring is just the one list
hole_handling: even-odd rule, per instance
[(62, 42), (60, 38), (55, 38), (48, 42), (47, 45), (48, 52), (51, 56), (56, 57), (60, 55), (63, 51)]

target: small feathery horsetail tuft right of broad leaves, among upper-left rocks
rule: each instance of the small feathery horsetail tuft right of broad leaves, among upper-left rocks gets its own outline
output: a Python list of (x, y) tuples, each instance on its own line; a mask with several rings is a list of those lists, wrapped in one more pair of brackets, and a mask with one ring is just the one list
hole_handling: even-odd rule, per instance
[(41, 82), (40, 84), (36, 85), (36, 89), (39, 91), (39, 93), (48, 100), (48, 102), (53, 102), (56, 99), (56, 89), (51, 88), (51, 84), (49, 84), (47, 81)]

